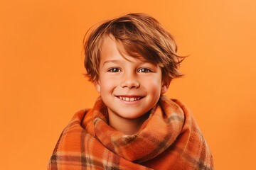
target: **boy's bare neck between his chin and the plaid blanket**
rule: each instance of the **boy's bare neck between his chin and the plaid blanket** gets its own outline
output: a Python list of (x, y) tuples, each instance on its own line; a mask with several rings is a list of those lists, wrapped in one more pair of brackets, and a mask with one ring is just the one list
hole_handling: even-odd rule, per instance
[(126, 135), (135, 135), (139, 132), (142, 124), (147, 118), (149, 118), (149, 113), (146, 113), (136, 119), (127, 119), (109, 111), (109, 125), (115, 130), (123, 132)]

